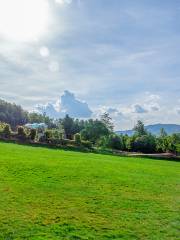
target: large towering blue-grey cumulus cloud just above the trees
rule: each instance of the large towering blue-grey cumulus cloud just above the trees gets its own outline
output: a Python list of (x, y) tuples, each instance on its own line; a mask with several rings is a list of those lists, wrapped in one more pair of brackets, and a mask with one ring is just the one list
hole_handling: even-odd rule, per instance
[(39, 113), (46, 113), (52, 118), (64, 117), (66, 114), (75, 118), (90, 118), (92, 111), (88, 104), (78, 100), (75, 95), (69, 91), (64, 91), (60, 100), (55, 103), (47, 103), (46, 105), (38, 105), (35, 110)]

